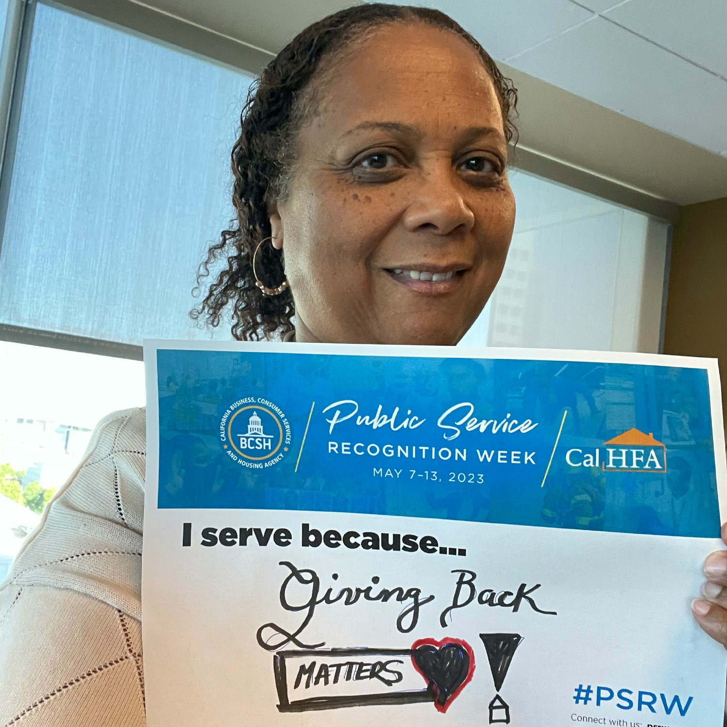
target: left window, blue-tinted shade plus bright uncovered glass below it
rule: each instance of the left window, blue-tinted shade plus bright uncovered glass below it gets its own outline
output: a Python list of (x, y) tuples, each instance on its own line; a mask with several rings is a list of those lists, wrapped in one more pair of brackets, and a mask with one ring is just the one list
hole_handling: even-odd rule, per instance
[[(233, 216), (229, 154), (251, 80), (38, 4), (0, 324), (132, 344), (206, 337), (190, 292)], [(140, 361), (0, 340), (0, 580), (98, 420), (144, 400)]]

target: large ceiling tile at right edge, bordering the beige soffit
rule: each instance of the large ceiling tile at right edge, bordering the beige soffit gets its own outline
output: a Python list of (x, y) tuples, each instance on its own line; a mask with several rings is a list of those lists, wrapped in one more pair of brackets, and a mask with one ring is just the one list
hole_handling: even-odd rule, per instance
[(693, 144), (727, 145), (727, 82), (602, 17), (511, 65)]

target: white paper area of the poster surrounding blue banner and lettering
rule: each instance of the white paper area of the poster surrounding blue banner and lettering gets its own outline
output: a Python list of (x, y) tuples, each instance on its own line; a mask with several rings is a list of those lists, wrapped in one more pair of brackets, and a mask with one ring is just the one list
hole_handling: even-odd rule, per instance
[[(177, 344), (166, 346), (182, 348)], [(240, 350), (242, 346), (234, 348)], [(274, 348), (292, 353), (290, 346)], [(310, 353), (311, 348), (321, 353), (316, 347), (293, 348), (295, 353)], [(326, 347), (332, 353), (345, 353), (346, 348)], [(443, 354), (441, 348), (434, 350), (437, 356)], [(397, 353), (409, 356), (434, 355), (428, 351), (396, 348)], [(374, 352), (382, 353), (379, 347)], [(146, 353), (152, 370), (150, 347)], [(494, 352), (476, 353), (491, 356)], [(576, 359), (574, 353), (562, 351), (518, 352), (520, 356), (515, 356), (510, 350), (499, 351), (497, 356), (549, 358), (548, 353)], [(457, 355), (462, 356), (462, 350)], [(598, 358), (614, 360), (602, 354)], [(634, 355), (619, 356), (617, 360), (627, 358), (636, 358), (642, 364), (671, 361), (674, 365), (678, 361), (678, 365), (685, 366), (690, 362)], [(579, 355), (578, 360), (596, 359)], [(695, 366), (705, 366), (704, 361), (691, 361)], [(724, 507), (718, 382), (712, 362), (706, 365), (710, 367), (720, 505)], [(149, 379), (153, 383), (153, 374)], [(486, 725), (488, 704), (496, 692), (478, 636), (481, 632), (518, 632), (524, 637), (500, 691), (510, 704), (514, 725), (566, 726), (577, 723), (577, 715), (605, 718), (606, 724), (611, 719), (625, 719), (642, 727), (721, 725), (727, 652), (704, 635), (689, 608), (704, 579), (704, 557), (720, 547), (718, 540), (337, 513), (157, 510), (153, 388), (148, 401), (142, 606), (149, 727), (250, 723), (261, 727), (368, 727), (392, 720), (421, 726)], [(183, 522), (193, 523), (192, 547), (181, 547)], [(302, 522), (341, 532), (353, 529), (430, 534), (442, 545), (466, 547), (467, 556), (302, 548), (298, 545)], [(285, 548), (201, 547), (199, 533), (206, 526), (287, 527), (294, 535), (294, 544)], [(422, 607), (417, 628), (408, 634), (395, 628), (400, 604), (362, 602), (318, 606), (300, 638), (308, 643), (325, 641), (324, 648), (409, 648), (417, 638), (461, 638), (475, 653), (472, 682), (446, 714), (437, 712), (431, 703), (281, 714), (276, 709), (273, 654), (258, 646), (255, 639), (258, 627), (265, 622), (294, 630), (302, 620), (302, 614), (281, 608), (278, 594), (289, 570), (278, 565), (279, 561), (316, 570), (324, 587), (365, 587), (377, 575), (383, 587), (419, 587), (424, 595), (435, 594), (435, 601)], [(475, 571), (478, 589), (515, 591), (521, 582), (529, 586), (540, 583), (535, 601), (543, 610), (558, 611), (558, 616), (537, 614), (526, 603), (515, 614), (507, 608), (472, 603), (454, 611), (451, 624), (443, 629), (439, 615), (451, 603), (457, 579), (452, 569)], [(332, 572), (340, 574), (335, 583), (330, 579)], [(596, 686), (601, 685), (614, 691), (650, 691), (657, 697), (663, 692), (667, 702), (674, 694), (679, 694), (683, 703), (688, 696), (694, 700), (684, 718), (677, 710), (669, 717), (664, 715), (660, 700), (655, 705), (656, 714), (638, 712), (636, 706), (619, 710), (616, 699), (613, 706), (597, 708), (595, 702), (576, 706), (574, 689), (581, 683), (590, 684), (594, 696)]]

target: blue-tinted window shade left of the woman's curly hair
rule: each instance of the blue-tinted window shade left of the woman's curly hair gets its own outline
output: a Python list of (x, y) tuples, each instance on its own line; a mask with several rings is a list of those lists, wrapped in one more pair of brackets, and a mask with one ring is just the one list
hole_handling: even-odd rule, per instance
[(208, 337), (190, 292), (233, 217), (229, 154), (251, 81), (39, 4), (0, 324), (132, 344)]

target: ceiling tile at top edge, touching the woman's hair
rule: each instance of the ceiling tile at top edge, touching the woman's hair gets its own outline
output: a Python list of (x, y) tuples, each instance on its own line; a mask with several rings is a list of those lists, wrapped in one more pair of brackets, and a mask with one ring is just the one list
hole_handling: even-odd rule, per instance
[(507, 60), (593, 17), (570, 0), (423, 0), (417, 5), (446, 12), (495, 60)]

